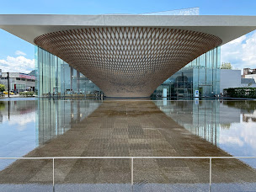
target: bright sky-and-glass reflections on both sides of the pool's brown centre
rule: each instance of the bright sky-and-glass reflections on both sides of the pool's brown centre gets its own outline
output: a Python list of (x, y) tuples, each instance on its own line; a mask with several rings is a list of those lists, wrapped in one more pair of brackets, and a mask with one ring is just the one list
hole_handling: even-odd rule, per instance
[[(230, 155), (256, 156), (255, 102), (154, 100), (152, 103), (186, 130)], [(86, 122), (88, 115), (101, 104), (102, 101), (94, 100), (1, 100), (0, 157), (22, 157), (44, 146), (79, 122)], [(139, 111), (133, 113), (141, 115)], [(255, 161), (243, 159), (243, 162), (256, 168)], [(0, 170), (9, 163), (0, 163)]]

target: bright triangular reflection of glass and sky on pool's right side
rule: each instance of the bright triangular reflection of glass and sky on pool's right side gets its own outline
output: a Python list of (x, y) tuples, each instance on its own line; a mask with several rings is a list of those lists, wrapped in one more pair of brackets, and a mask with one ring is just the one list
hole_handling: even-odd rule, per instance
[[(256, 103), (253, 101), (154, 101), (193, 134), (232, 156), (256, 156)], [(255, 161), (243, 159), (253, 168)]]

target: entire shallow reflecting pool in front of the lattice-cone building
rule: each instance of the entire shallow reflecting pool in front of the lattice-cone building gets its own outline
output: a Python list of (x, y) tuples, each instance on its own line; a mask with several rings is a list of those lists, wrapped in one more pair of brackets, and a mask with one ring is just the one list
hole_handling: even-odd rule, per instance
[[(254, 101), (0, 100), (0, 157), (255, 157), (254, 129)], [(211, 191), (253, 191), (255, 168), (212, 159)], [(52, 191), (52, 170), (52, 159), (0, 159), (0, 191)], [(54, 163), (55, 191), (209, 191), (209, 174), (207, 158)]]

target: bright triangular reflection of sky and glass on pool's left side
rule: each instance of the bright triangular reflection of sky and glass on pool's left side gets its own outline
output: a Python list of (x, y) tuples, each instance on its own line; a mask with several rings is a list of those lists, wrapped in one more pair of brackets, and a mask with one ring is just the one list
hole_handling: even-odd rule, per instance
[[(0, 101), (0, 157), (22, 157), (70, 130), (98, 101), (26, 99)], [(14, 160), (2, 160), (0, 170)]]

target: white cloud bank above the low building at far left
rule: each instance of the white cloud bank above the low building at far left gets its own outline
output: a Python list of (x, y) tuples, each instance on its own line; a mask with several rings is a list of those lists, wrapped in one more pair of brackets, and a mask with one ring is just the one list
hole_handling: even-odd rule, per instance
[(8, 56), (6, 60), (0, 60), (2, 72), (24, 72), (29, 73), (35, 69), (35, 59), (30, 60), (24, 56)]

